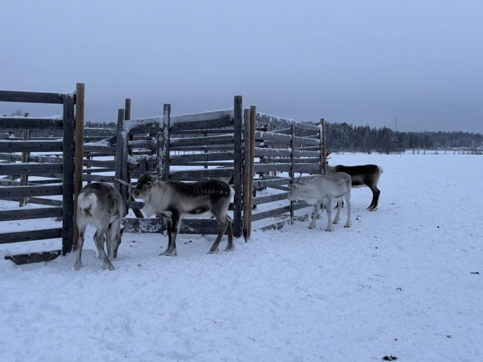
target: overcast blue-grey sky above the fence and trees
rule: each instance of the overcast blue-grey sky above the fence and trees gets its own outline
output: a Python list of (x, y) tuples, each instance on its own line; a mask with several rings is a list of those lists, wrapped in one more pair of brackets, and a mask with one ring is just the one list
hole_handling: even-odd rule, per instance
[[(483, 132), (483, 1), (0, 0), (0, 89), (86, 83), (86, 120), (244, 106)], [(60, 113), (0, 103), (0, 113)]]

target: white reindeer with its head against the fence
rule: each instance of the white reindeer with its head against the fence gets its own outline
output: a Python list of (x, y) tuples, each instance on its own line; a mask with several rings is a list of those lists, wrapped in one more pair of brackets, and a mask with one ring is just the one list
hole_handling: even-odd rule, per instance
[[(344, 227), (351, 226), (351, 176), (344, 172), (337, 172), (333, 175), (317, 175), (307, 181), (301, 181), (300, 177), (295, 184), (288, 185), (290, 192), (287, 199), (290, 201), (303, 200), (308, 205), (314, 205), (312, 222), (309, 229), (315, 228), (320, 204), (326, 206), (327, 227), (326, 231), (334, 230), (334, 226), (340, 220), (342, 200), (347, 203), (347, 221)], [(337, 215), (332, 221), (332, 201), (338, 202)]]

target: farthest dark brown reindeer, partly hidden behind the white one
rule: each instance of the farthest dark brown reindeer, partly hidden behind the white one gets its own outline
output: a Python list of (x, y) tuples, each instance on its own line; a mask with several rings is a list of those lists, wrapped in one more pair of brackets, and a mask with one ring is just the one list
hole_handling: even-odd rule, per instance
[(382, 168), (378, 165), (361, 165), (361, 166), (329, 166), (327, 165), (327, 174), (331, 175), (336, 172), (345, 172), (351, 176), (352, 187), (360, 188), (367, 186), (372, 191), (372, 201), (367, 207), (369, 211), (376, 211), (379, 203), (379, 195), (381, 192), (377, 188), (377, 183), (381, 177)]

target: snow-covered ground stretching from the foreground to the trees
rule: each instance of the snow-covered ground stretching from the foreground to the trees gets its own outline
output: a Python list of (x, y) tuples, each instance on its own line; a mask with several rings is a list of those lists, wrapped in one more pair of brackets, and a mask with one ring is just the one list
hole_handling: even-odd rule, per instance
[(179, 235), (177, 257), (158, 256), (166, 236), (126, 234), (112, 272), (92, 229), (78, 272), (75, 253), (23, 266), (2, 257), (0, 360), (483, 360), (483, 156), (333, 155), (339, 163), (384, 169), (377, 212), (365, 209), (368, 189), (353, 190), (349, 229), (343, 209), (334, 232), (324, 213), (315, 230), (255, 231), (216, 255), (214, 236)]

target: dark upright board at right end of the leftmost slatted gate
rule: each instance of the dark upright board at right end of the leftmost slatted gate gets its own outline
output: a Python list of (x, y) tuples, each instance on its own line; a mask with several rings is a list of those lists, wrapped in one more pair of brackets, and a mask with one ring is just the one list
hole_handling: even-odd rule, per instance
[[(74, 233), (74, 100), (63, 97), (62, 254), (72, 250)], [(40, 186), (38, 186), (40, 187)]]

